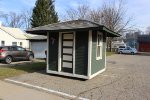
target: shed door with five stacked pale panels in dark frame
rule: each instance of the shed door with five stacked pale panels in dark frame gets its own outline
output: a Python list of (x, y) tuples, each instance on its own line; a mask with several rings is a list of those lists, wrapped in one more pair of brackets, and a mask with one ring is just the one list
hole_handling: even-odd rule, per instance
[(73, 33), (63, 33), (62, 34), (62, 63), (61, 71), (73, 73), (73, 43), (74, 34)]

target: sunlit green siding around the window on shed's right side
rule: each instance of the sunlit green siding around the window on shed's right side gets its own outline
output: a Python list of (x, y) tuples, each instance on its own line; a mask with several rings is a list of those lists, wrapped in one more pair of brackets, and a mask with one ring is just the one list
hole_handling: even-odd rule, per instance
[(91, 65), (91, 74), (94, 74), (105, 68), (105, 45), (106, 37), (103, 34), (103, 46), (102, 46), (102, 59), (96, 60), (96, 45), (97, 45), (97, 31), (92, 33), (92, 65)]

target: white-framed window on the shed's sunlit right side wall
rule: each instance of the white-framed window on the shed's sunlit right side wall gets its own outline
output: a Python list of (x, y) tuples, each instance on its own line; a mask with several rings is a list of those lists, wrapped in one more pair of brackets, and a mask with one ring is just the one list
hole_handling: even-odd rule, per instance
[(102, 45), (103, 45), (103, 35), (102, 33), (97, 33), (97, 46), (96, 46), (96, 60), (102, 59)]

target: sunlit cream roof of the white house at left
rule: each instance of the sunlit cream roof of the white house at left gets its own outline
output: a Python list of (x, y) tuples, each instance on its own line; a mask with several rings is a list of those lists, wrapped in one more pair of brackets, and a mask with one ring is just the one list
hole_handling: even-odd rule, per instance
[(27, 39), (27, 37), (24, 35), (26, 33), (19, 28), (0, 26), (0, 29), (16, 39)]

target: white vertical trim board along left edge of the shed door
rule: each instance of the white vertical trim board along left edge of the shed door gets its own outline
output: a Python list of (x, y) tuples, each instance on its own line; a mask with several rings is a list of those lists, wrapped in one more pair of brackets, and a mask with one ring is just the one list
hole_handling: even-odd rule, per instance
[(61, 71), (61, 42), (62, 42), (62, 33), (59, 32), (59, 40), (58, 40), (58, 71)]

